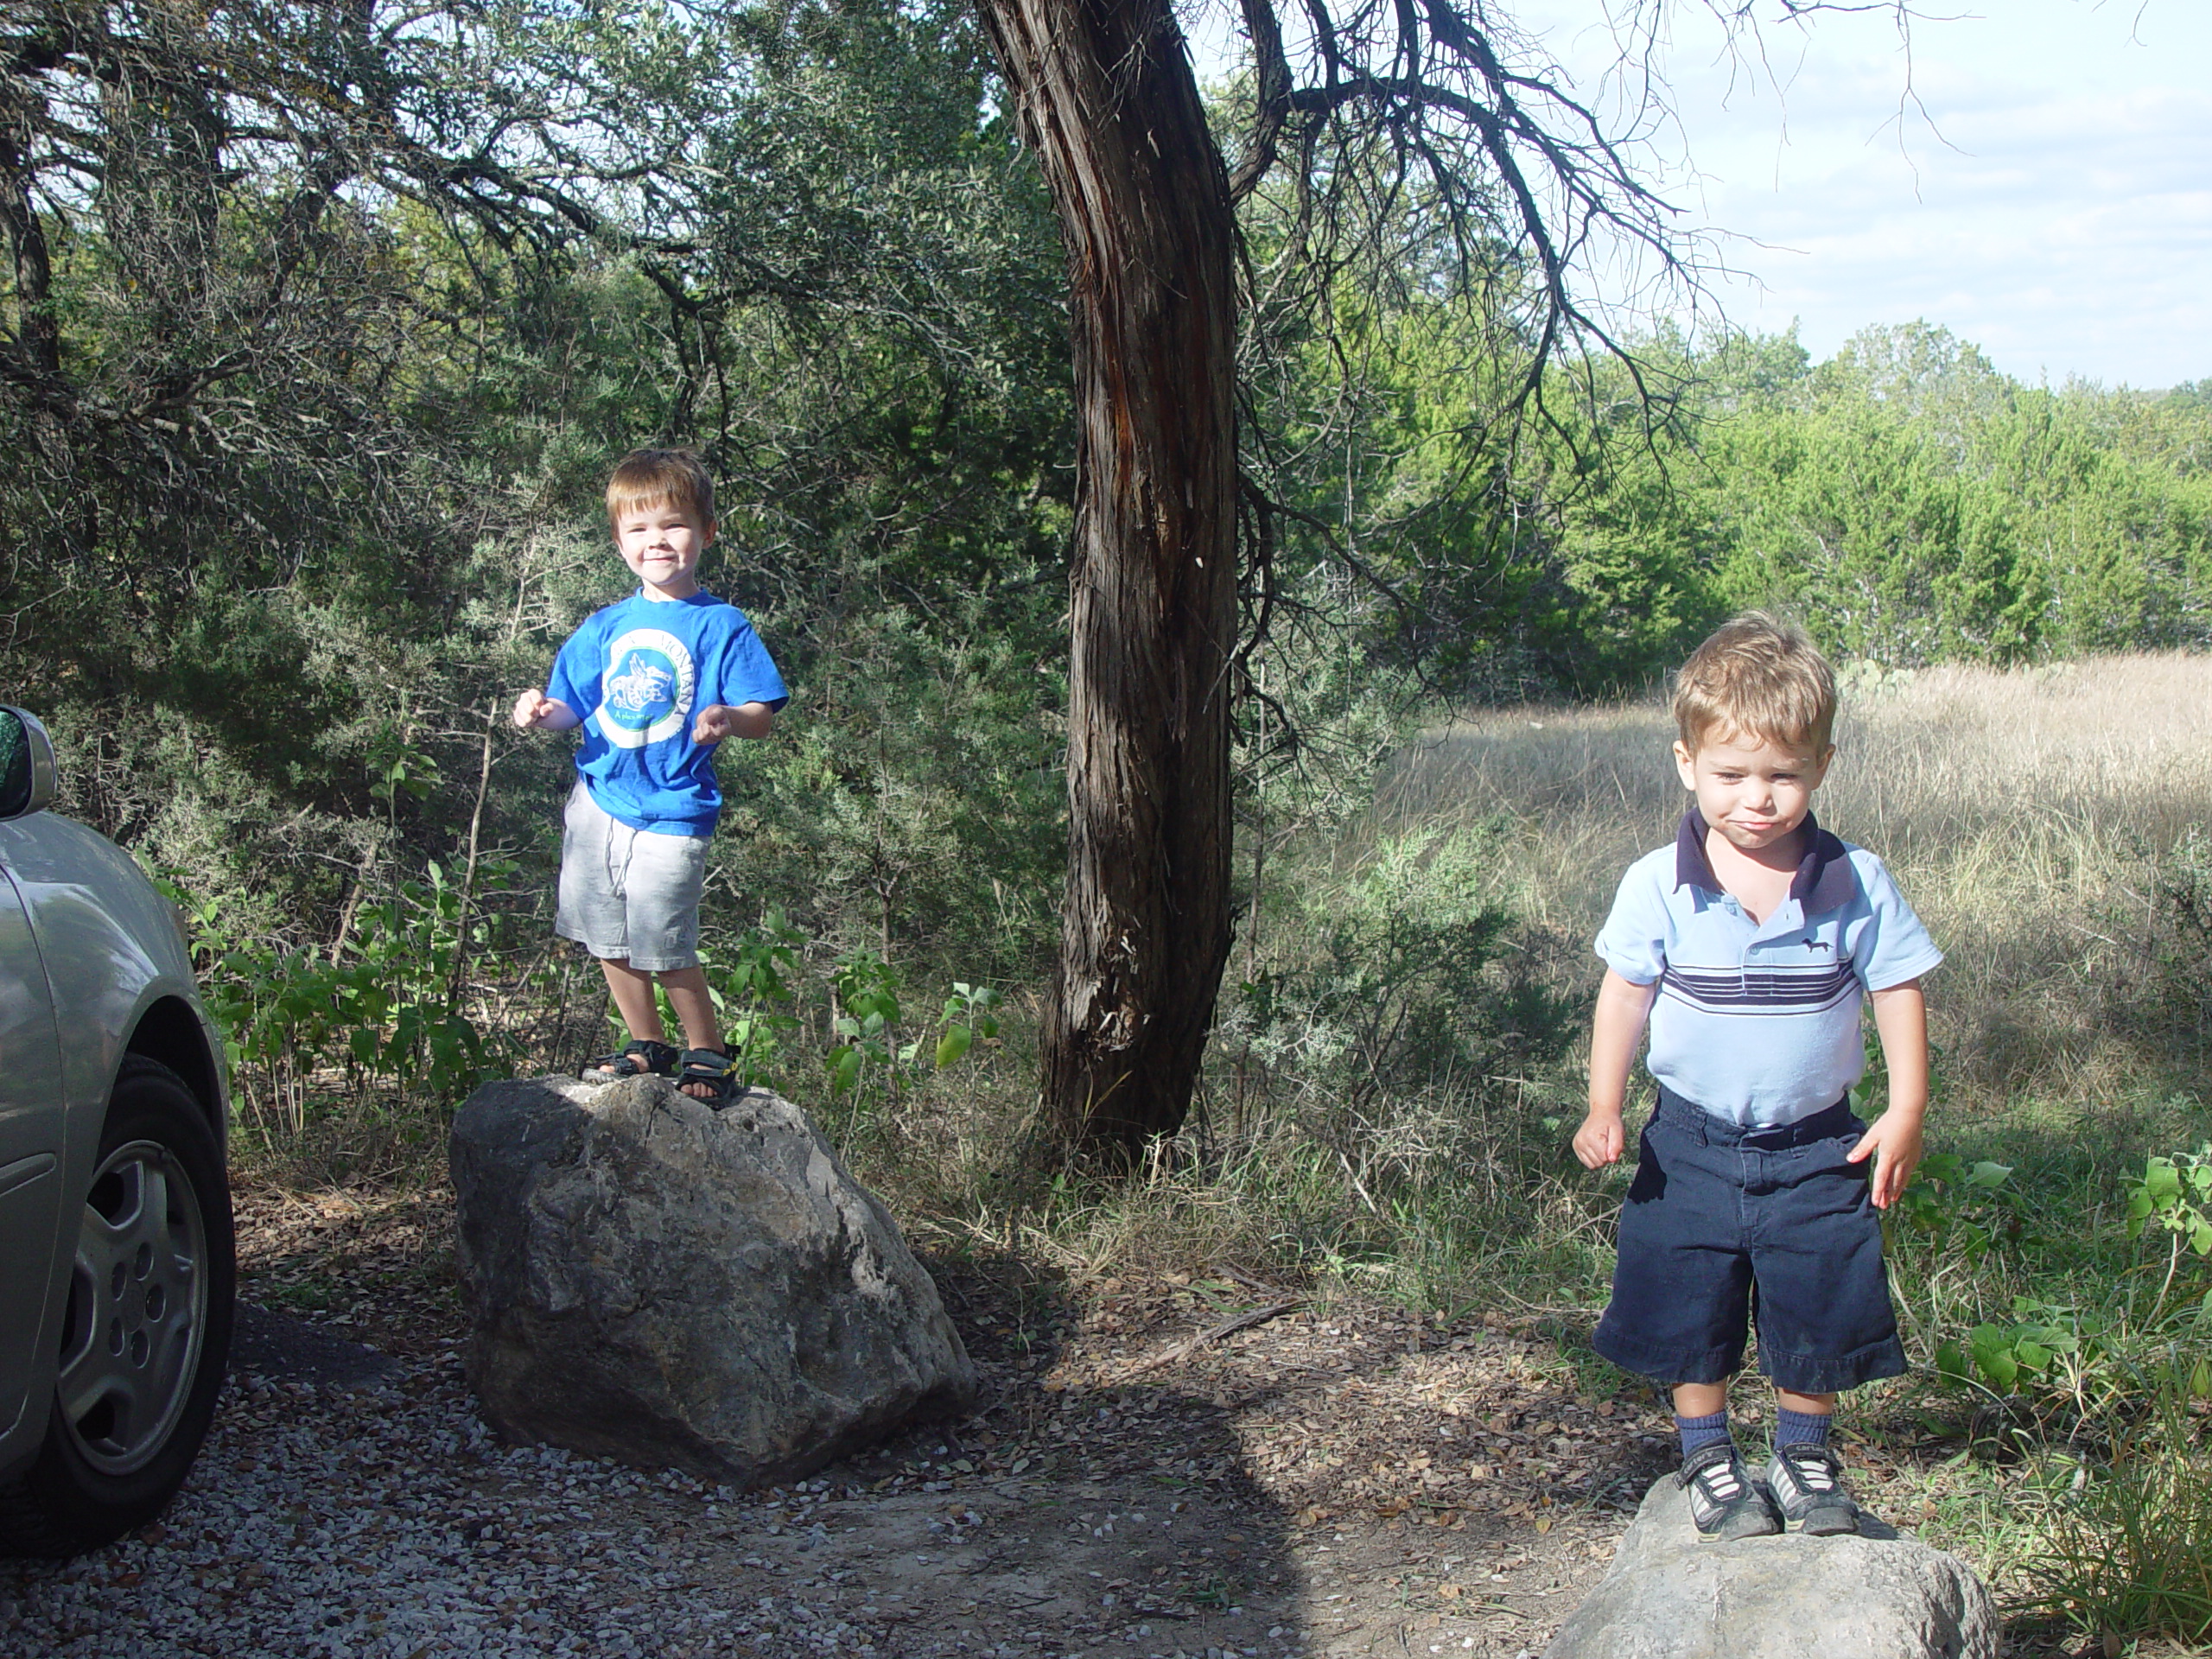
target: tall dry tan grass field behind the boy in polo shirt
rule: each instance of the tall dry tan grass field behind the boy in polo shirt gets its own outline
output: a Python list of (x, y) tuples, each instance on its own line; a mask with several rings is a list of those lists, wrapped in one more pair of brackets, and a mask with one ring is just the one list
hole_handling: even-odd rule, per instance
[[(1367, 836), (1504, 818), (1493, 896), (1588, 940), (1621, 869), (1674, 832), (1672, 737), (1655, 703), (1469, 714), (1400, 757)], [(2212, 825), (2212, 659), (1860, 684), (1816, 812), (1882, 854), (1942, 945), (1933, 1040), (1966, 1095), (2097, 1099), (2203, 1057), (2201, 1018), (2192, 1053), (2139, 1015), (2157, 869)]]

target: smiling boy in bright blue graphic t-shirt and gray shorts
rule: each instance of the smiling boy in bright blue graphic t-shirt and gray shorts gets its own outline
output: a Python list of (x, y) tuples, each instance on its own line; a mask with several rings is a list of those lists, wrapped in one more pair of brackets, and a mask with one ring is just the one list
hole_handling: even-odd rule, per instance
[[(595, 611), (515, 699), (515, 726), (584, 728), (562, 821), (553, 929), (599, 958), (630, 1044), (586, 1077), (672, 1075), (723, 1106), (734, 1075), (699, 971), (706, 843), (721, 814), (714, 745), (768, 737), (790, 692), (745, 615), (699, 588), (714, 482), (688, 449), (624, 456), (606, 484), (615, 551), (639, 588)], [(668, 1044), (653, 984), (684, 1026)]]

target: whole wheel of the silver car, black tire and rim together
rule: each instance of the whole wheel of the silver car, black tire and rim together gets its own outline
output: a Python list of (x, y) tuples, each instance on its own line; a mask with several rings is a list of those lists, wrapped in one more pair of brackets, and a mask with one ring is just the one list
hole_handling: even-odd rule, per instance
[(159, 1515), (215, 1418), (237, 1261), (206, 1108), (124, 1057), (84, 1194), (38, 1458), (0, 1484), (0, 1548), (75, 1555)]

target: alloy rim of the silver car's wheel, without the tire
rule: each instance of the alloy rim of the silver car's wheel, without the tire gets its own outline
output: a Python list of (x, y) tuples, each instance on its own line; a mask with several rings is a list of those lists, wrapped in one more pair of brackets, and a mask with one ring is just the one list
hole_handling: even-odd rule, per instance
[(208, 1228), (199, 1192), (159, 1141), (100, 1164), (77, 1225), (55, 1402), (77, 1455), (131, 1475), (168, 1442), (199, 1371)]

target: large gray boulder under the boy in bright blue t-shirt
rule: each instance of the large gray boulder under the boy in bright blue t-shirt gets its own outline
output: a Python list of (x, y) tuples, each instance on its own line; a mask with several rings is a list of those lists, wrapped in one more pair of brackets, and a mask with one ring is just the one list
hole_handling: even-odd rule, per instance
[(752, 1484), (975, 1398), (898, 1223), (787, 1099), (498, 1082), (451, 1164), (469, 1383), (513, 1440)]

